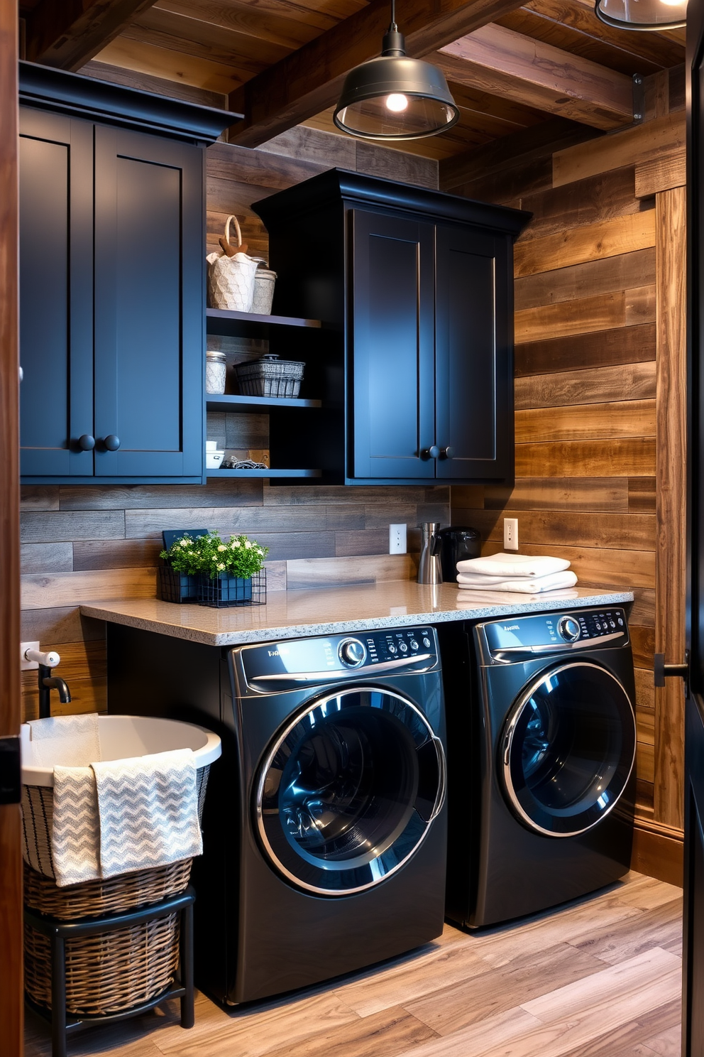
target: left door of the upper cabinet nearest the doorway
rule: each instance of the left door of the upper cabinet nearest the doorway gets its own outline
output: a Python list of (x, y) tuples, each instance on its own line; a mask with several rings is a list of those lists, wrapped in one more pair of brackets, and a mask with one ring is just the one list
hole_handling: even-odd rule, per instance
[(93, 125), (20, 110), (21, 472), (90, 477)]

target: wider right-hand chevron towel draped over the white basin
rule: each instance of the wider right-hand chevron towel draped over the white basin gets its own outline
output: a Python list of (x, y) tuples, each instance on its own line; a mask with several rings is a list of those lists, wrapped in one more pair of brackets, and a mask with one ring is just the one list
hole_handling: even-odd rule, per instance
[(190, 748), (92, 764), (100, 820), (100, 876), (203, 853)]

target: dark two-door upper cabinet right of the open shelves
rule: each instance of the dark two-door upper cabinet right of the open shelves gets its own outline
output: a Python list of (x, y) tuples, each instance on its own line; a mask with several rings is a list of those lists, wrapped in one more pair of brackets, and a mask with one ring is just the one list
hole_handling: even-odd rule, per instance
[[(270, 446), (323, 480), (513, 477), (513, 241), (529, 214), (332, 169), (254, 205), (274, 311), (312, 315), (300, 348), (324, 407)], [(322, 458), (321, 458), (322, 453)]]

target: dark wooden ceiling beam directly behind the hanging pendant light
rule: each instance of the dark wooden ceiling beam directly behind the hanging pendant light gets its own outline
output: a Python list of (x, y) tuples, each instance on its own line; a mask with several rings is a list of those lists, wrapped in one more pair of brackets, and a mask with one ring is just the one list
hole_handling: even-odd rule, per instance
[[(400, 29), (408, 55), (420, 58), (513, 11), (520, 0), (407, 0)], [(388, 0), (367, 6), (304, 44), (230, 94), (245, 120), (230, 141), (258, 147), (332, 106), (345, 75), (375, 58), (388, 27)]]

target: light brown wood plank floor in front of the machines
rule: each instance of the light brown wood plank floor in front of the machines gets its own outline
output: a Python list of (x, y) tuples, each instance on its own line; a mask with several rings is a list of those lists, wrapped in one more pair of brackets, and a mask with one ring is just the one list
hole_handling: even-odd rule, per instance
[[(70, 1057), (679, 1057), (682, 892), (631, 873), (596, 896), (225, 1013), (199, 995), (69, 1041)], [(25, 1057), (51, 1057), (27, 1014)]]

